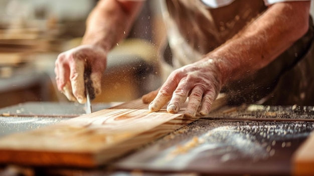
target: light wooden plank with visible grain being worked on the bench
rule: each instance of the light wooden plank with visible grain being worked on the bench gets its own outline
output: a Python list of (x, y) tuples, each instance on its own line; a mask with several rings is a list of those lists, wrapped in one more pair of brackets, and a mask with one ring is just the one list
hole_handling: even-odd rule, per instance
[[(217, 101), (222, 103), (224, 101)], [(213, 109), (219, 106), (213, 105)], [(95, 167), (194, 119), (166, 109), (149, 112), (141, 100), (0, 139), (0, 163)]]

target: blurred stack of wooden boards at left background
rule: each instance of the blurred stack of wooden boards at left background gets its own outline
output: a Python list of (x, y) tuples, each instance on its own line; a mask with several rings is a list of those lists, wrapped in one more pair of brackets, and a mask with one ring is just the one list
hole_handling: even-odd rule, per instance
[(32, 61), (38, 52), (61, 52), (64, 41), (37, 28), (0, 29), (0, 66), (16, 66)]

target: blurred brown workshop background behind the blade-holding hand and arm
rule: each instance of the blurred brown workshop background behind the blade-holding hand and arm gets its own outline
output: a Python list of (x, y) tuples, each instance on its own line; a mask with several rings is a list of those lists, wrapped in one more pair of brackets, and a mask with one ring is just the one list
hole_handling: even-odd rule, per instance
[[(0, 0), (0, 107), (68, 101), (55, 84), (59, 53), (80, 44), (94, 0)], [(313, 12), (313, 4), (311, 12)], [(161, 85), (159, 60), (171, 58), (160, 0), (145, 2), (128, 38), (108, 56), (93, 103), (128, 101)]]

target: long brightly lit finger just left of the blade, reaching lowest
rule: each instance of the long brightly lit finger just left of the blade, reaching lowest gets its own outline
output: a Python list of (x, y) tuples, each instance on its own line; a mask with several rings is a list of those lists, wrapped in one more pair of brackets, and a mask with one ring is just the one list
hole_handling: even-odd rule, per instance
[(70, 63), (70, 81), (72, 92), (76, 100), (81, 104), (86, 102), (84, 67), (85, 61), (81, 59)]

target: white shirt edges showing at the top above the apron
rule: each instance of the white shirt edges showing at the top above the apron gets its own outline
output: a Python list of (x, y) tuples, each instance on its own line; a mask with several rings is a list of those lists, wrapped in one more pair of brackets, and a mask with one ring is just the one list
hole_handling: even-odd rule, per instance
[[(223, 6), (227, 6), (234, 2), (235, 0), (201, 0), (205, 5), (207, 5), (209, 8), (219, 8)], [(254, 0), (252, 0), (254, 1)], [(289, 1), (304, 1), (304, 0), (264, 0), (265, 6), (269, 6), (275, 3), (280, 2), (289, 2)], [(310, 1), (310, 0), (306, 0)]]

